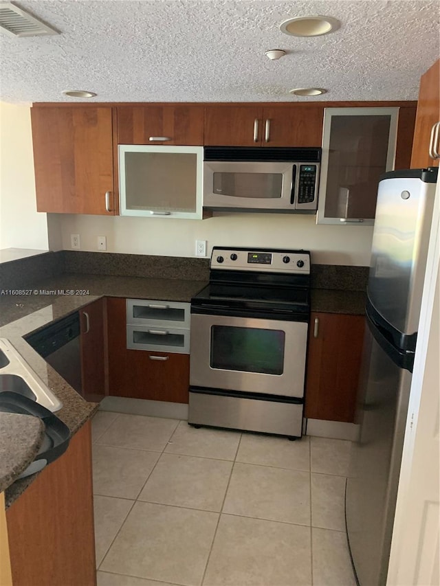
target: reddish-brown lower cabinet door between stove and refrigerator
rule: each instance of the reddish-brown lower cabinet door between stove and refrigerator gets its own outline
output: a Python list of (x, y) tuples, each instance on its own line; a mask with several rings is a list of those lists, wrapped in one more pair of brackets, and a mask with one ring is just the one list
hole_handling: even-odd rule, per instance
[(353, 422), (364, 326), (362, 315), (311, 314), (307, 418)]

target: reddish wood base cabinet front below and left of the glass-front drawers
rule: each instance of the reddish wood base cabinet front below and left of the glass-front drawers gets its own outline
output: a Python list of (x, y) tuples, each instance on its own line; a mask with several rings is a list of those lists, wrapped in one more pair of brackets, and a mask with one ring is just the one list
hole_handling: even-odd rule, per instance
[(109, 394), (188, 403), (189, 354), (128, 350), (126, 300), (107, 297)]

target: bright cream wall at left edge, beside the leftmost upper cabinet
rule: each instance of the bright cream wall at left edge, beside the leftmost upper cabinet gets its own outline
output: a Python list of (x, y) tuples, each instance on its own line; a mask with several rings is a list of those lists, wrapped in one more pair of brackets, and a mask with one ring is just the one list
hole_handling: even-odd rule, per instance
[(48, 249), (36, 211), (30, 108), (0, 102), (0, 249)]

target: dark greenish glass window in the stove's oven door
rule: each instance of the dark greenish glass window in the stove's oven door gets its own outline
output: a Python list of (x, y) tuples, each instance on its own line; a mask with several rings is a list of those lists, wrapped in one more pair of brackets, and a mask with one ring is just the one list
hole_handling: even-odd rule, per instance
[(282, 330), (212, 326), (210, 366), (261, 374), (283, 374)]

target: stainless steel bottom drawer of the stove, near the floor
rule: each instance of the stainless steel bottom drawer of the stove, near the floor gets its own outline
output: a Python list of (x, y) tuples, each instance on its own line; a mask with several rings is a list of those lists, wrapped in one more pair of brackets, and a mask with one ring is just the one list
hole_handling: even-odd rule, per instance
[(303, 403), (191, 390), (188, 423), (300, 437)]

